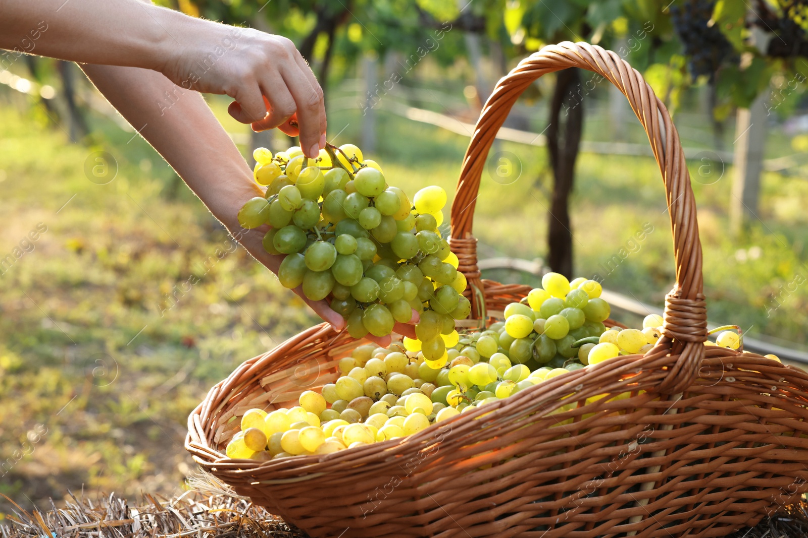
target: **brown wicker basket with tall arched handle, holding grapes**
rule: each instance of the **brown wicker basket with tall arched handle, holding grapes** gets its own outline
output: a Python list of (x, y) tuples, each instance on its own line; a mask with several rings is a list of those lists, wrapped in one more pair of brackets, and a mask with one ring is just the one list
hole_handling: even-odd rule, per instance
[[(808, 489), (808, 375), (759, 355), (705, 346), (701, 244), (679, 136), (640, 73), (589, 44), (523, 60), (486, 102), (452, 205), (452, 250), (488, 311), (527, 286), (481, 281), (474, 199), (495, 133), (545, 73), (589, 69), (617, 85), (646, 128), (663, 175), (676, 285), (663, 338), (436, 424), (415, 436), (327, 456), (229, 460), (250, 407), (295, 405), (337, 377), (356, 346), (326, 324), (238, 367), (188, 419), (206, 470), (311, 536), (726, 536)], [(481, 304), (475, 304), (479, 316)]]

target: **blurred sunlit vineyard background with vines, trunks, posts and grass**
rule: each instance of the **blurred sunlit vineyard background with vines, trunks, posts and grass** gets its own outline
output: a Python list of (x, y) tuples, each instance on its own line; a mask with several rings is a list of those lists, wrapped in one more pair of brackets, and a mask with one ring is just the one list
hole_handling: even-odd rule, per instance
[[(614, 50), (669, 106), (688, 148), (710, 319), (808, 344), (806, 2), (162, 4), (294, 40), (326, 90), (331, 141), (360, 144), (390, 184), (436, 184), (450, 198), (468, 124), (499, 77), (549, 43)], [(173, 494), (193, 469), (188, 412), (316, 319), (74, 65), (7, 52), (0, 83), (0, 260), (13, 261), (0, 266), (0, 493), (23, 507), (68, 489)], [(294, 144), (230, 119), (226, 98), (208, 102), (248, 161), (259, 145)], [(764, 131), (739, 149), (750, 110)], [(625, 98), (591, 73), (556, 73), (528, 88), (506, 126), (547, 144), (494, 144), (475, 218), (480, 257), (597, 274), (661, 305), (674, 278), (666, 202)], [(85, 174), (99, 151), (117, 167), (105, 185)], [(506, 185), (492, 173), (503, 155), (518, 172)], [(757, 159), (756, 175), (733, 165), (739, 156), (746, 168)], [(735, 194), (753, 180), (753, 202)], [(616, 258), (620, 248), (628, 255)], [(200, 282), (189, 286), (191, 275)], [(0, 501), (0, 519), (10, 510)]]

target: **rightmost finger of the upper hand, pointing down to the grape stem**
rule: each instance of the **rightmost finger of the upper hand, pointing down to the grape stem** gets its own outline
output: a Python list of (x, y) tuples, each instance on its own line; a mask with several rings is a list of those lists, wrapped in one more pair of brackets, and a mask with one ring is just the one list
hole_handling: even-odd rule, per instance
[[(308, 69), (308, 66), (306, 66)], [(292, 97), (297, 104), (297, 119), (300, 130), (300, 144), (305, 156), (316, 158), (320, 152), (320, 138), (325, 125), (326, 107), (322, 98), (322, 89), (317, 81), (314, 84), (308, 77), (302, 76), (299, 66), (286, 69), (281, 73)]]

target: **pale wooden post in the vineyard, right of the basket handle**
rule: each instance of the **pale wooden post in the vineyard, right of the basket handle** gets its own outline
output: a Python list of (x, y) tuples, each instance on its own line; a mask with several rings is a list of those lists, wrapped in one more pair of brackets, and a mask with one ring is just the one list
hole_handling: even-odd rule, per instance
[(734, 236), (739, 236), (750, 220), (758, 218), (767, 99), (768, 92), (764, 92), (750, 108), (739, 108), (735, 115), (734, 177), (730, 198), (730, 231)]

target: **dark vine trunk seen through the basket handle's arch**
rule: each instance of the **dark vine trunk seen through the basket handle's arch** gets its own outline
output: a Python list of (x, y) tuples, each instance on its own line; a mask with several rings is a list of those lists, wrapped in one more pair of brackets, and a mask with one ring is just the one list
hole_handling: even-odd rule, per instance
[(572, 276), (572, 231), (570, 231), (570, 192), (575, 161), (583, 131), (583, 101), (579, 92), (579, 70), (563, 69), (556, 76), (549, 108), (547, 150), (553, 168), (553, 198), (548, 226), (548, 264), (556, 273)]

